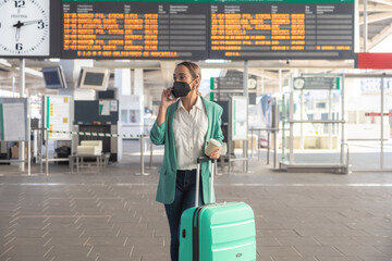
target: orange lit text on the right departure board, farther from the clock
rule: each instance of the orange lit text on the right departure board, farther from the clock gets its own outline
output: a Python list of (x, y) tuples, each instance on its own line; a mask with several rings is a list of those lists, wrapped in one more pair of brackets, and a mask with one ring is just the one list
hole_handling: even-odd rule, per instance
[[(244, 50), (303, 51), (305, 14), (211, 14), (211, 50), (238, 57)], [(255, 49), (256, 48), (256, 49)], [(266, 49), (267, 48), (267, 49)], [(317, 46), (316, 51), (351, 50), (350, 46)]]

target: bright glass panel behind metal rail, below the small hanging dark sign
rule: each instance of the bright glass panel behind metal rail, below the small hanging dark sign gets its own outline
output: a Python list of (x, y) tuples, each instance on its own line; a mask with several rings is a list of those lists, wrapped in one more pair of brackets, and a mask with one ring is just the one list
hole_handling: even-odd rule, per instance
[(295, 163), (340, 164), (340, 89), (294, 91), (293, 148)]

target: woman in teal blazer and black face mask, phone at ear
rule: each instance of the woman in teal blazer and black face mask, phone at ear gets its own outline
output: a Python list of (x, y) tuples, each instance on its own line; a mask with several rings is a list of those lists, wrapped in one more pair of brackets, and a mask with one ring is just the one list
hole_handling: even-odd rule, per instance
[[(176, 65), (173, 88), (162, 91), (161, 104), (150, 137), (155, 145), (164, 145), (164, 157), (159, 169), (157, 201), (164, 203), (171, 234), (170, 254), (179, 260), (180, 220), (184, 210), (195, 206), (196, 160), (210, 138), (222, 144), (222, 108), (207, 101), (198, 92), (201, 72), (193, 62)], [(173, 99), (180, 97), (180, 99)], [(211, 159), (220, 157), (215, 150)], [(210, 162), (201, 165), (199, 202), (209, 203)]]

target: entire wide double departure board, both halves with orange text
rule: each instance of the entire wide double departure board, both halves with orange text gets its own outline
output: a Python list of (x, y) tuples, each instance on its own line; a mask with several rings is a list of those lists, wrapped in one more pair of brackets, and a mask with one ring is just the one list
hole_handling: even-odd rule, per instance
[(353, 59), (354, 0), (62, 1), (63, 59)]

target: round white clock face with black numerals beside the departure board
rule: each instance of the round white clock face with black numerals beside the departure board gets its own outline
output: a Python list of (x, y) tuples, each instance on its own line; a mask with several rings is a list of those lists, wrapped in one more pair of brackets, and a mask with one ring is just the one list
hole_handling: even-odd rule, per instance
[(49, 0), (0, 0), (0, 57), (49, 55)]

